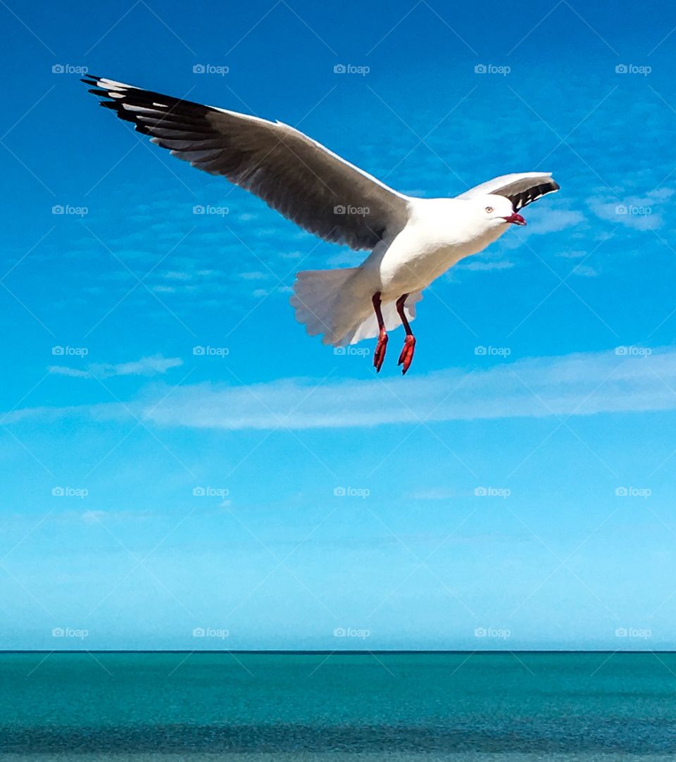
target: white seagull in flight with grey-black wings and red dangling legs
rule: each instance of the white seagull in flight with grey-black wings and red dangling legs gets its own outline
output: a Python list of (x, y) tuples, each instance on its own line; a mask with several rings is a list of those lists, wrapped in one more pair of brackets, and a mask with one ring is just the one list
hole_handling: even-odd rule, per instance
[(359, 267), (301, 272), (296, 319), (335, 347), (377, 336), (380, 371), (387, 331), (400, 323), (402, 373), (413, 359), (410, 323), (421, 292), (457, 261), (482, 251), (519, 211), (559, 190), (549, 172), (504, 174), (454, 198), (414, 198), (381, 183), (299, 130), (113, 79), (87, 76), (89, 92), (172, 155), (261, 197), (325, 241), (366, 249)]

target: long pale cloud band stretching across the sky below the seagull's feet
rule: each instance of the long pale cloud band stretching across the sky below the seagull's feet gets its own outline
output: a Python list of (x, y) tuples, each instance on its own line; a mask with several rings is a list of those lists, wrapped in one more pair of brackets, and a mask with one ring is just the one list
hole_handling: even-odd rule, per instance
[[(145, 358), (114, 367), (118, 373), (148, 367), (163, 372), (159, 369), (175, 364), (177, 358)], [(162, 427), (297, 430), (676, 410), (676, 350), (618, 347), (485, 370), (442, 370), (405, 381), (280, 379), (251, 386), (181, 386), (164, 399), (165, 393), (154, 388), (126, 407), (107, 403), (15, 411), (5, 423), (55, 416), (124, 418), (131, 410)]]

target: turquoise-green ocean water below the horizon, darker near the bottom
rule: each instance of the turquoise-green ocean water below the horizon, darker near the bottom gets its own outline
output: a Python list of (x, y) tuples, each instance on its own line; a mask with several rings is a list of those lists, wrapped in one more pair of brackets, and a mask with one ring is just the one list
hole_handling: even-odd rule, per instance
[(673, 760), (676, 654), (3, 653), (3, 760)]

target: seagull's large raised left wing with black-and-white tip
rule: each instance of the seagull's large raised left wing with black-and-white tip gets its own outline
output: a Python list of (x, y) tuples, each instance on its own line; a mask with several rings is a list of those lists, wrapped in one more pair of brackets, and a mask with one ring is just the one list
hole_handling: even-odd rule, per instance
[(87, 76), (120, 119), (198, 169), (221, 174), (325, 241), (373, 248), (408, 219), (402, 194), (299, 130)]

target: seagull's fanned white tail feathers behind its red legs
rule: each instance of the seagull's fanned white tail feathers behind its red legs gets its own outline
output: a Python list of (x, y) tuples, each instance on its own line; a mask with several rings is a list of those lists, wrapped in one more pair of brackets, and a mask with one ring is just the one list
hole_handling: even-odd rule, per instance
[[(291, 305), (296, 310), (296, 320), (305, 325), (310, 336), (323, 334), (324, 344), (340, 347), (378, 335), (371, 303), (373, 294), (367, 293), (365, 284), (355, 277), (360, 271), (360, 267), (343, 267), (298, 274)], [(406, 299), (409, 321), (415, 318), (415, 303), (421, 298), (417, 291)], [(383, 320), (388, 331), (401, 325), (394, 302), (383, 304)]]

